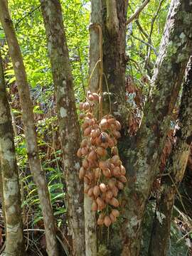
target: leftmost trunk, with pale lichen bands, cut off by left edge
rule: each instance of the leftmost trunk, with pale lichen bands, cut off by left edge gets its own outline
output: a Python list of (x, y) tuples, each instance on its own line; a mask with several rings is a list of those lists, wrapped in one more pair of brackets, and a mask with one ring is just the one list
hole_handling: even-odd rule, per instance
[(25, 255), (21, 196), (9, 102), (6, 97), (3, 63), (0, 53), (0, 154), (4, 212), (6, 218), (6, 256)]

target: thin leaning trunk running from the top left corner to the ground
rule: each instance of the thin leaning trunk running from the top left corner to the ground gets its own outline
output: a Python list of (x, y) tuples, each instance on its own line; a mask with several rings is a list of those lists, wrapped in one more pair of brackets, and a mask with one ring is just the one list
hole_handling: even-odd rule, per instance
[(34, 181), (38, 188), (43, 220), (46, 230), (46, 245), (48, 255), (58, 255), (57, 241), (55, 237), (55, 223), (53, 209), (50, 203), (46, 176), (42, 170), (41, 162), (38, 156), (38, 145), (33, 117), (33, 105), (30, 99), (26, 70), (23, 65), (21, 50), (18, 46), (14, 26), (9, 15), (7, 2), (0, 0), (0, 20), (6, 34), (6, 40), (9, 46), (9, 54), (14, 65), (16, 75), (16, 84), (21, 101), (22, 119), (26, 137), (26, 147), (28, 151), (28, 162)]

